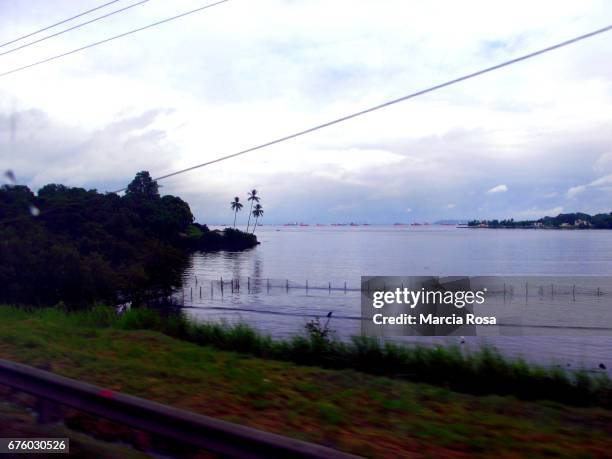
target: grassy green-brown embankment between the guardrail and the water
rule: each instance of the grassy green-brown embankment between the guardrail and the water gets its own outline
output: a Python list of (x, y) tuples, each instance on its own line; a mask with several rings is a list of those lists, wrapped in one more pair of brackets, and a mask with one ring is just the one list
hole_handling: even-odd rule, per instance
[[(320, 345), (306, 339), (275, 343), (244, 327), (223, 330), (196, 327), (180, 319), (162, 322), (151, 312), (136, 311), (116, 319), (102, 309), (65, 315), (55, 310), (30, 313), (4, 307), (0, 308), (0, 357), (368, 456), (397, 457), (412, 452), (447, 457), (519, 453), (588, 457), (612, 451), (612, 411), (602, 408), (522, 401), (512, 396), (475, 396), (363, 371), (300, 366), (200, 346), (145, 328), (238, 351), (262, 355), (274, 352), (275, 357), (284, 355), (287, 359), (293, 355), (292, 359), (305, 359), (305, 363), (314, 363), (309, 359), (315, 358)], [(374, 349), (372, 343), (369, 346)], [(338, 349), (335, 361), (321, 362), (341, 367), (338, 362), (346, 362), (348, 354), (341, 358)], [(390, 359), (389, 349), (378, 347), (375, 352), (379, 361)], [(356, 361), (361, 361), (359, 365), (376, 357), (366, 350), (362, 349), (363, 361)], [(347, 346), (344, 352), (349, 351)], [(331, 358), (332, 351), (326, 352)], [(554, 381), (565, 378), (565, 383), (556, 384), (574, 388), (563, 389), (574, 394), (573, 402), (593, 402), (597, 397), (601, 403), (609, 401), (602, 392), (604, 388), (598, 386), (603, 382), (589, 379), (588, 389), (584, 387), (586, 376), (571, 380), (557, 372), (506, 362), (493, 354), (470, 360), (452, 350), (393, 350), (398, 352), (406, 352), (403, 358), (408, 360), (403, 364), (412, 362), (413, 370), (427, 367), (436, 373), (441, 372), (437, 369), (440, 365), (449, 381), (486, 368), (490, 370), (483, 373), (485, 381), (500, 379), (492, 374), (511, 377), (513, 372), (523, 374), (515, 379), (521, 381), (529, 372), (535, 387), (543, 384), (537, 381), (548, 381), (555, 388)], [(397, 363), (402, 361), (395, 359)], [(353, 366), (359, 365), (353, 362)], [(391, 368), (389, 361), (368, 365), (365, 370), (369, 372)], [(452, 376), (452, 365), (456, 366), (456, 376)], [(467, 367), (474, 368), (468, 371)], [(468, 382), (479, 385), (475, 377)], [(576, 398), (577, 391), (590, 395)]]

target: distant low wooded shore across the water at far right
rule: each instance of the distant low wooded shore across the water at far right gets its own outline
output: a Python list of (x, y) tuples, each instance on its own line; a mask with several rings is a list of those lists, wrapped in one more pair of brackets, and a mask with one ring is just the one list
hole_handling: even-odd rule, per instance
[(568, 229), (612, 229), (612, 213), (589, 215), (581, 212), (559, 214), (539, 220), (472, 220), (470, 227), (485, 228), (568, 228)]

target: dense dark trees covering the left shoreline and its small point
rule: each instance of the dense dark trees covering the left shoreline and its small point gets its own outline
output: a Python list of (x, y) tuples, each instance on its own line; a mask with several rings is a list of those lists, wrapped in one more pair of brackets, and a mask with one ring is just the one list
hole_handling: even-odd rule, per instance
[(255, 236), (194, 223), (139, 172), (124, 196), (46, 185), (0, 188), (0, 302), (141, 301), (178, 285), (192, 250), (244, 249)]

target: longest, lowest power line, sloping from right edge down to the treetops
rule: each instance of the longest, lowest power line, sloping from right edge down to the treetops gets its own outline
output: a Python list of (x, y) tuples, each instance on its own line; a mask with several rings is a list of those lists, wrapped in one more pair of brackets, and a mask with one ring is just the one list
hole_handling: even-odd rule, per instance
[[(303, 136), (305, 134), (309, 134), (311, 132), (318, 131), (320, 129), (324, 129), (324, 128), (329, 127), (329, 126), (333, 126), (335, 124), (342, 123), (343, 121), (347, 121), (347, 120), (350, 120), (352, 118), (356, 118), (358, 116), (365, 115), (366, 113), (370, 113), (370, 112), (373, 112), (373, 111), (376, 111), (376, 110), (380, 110), (381, 108), (389, 107), (391, 105), (395, 105), (397, 103), (404, 102), (404, 101), (406, 101), (408, 99), (413, 99), (415, 97), (422, 96), (423, 94), (427, 94), (427, 93), (430, 93), (430, 92), (433, 92), (433, 91), (437, 91), (438, 89), (442, 89), (442, 88), (445, 88), (447, 86), (451, 86), (451, 85), (460, 83), (462, 81), (469, 80), (471, 78), (475, 78), (475, 77), (480, 76), (480, 75), (484, 75), (485, 73), (489, 73), (489, 72), (492, 72), (494, 70), (498, 70), (498, 69), (501, 69), (503, 67), (507, 67), (509, 65), (516, 64), (516, 63), (521, 62), (521, 61), (525, 61), (527, 59), (531, 59), (532, 57), (536, 57), (536, 56), (539, 56), (541, 54), (545, 54), (545, 53), (548, 53), (550, 51), (553, 51), (553, 50), (556, 50), (556, 49), (559, 49), (559, 48), (563, 48), (565, 46), (569, 46), (569, 45), (577, 43), (577, 42), (579, 42), (581, 40), (585, 40), (587, 38), (591, 38), (591, 37), (594, 37), (596, 35), (599, 35), (599, 34), (602, 34), (602, 33), (605, 33), (605, 32), (609, 32), (610, 30), (612, 30), (612, 25), (609, 25), (609, 26), (604, 27), (602, 29), (595, 30), (593, 32), (586, 33), (584, 35), (580, 35), (578, 37), (571, 38), (571, 39), (563, 41), (561, 43), (557, 43), (556, 45), (552, 45), (552, 46), (549, 46), (547, 48), (543, 48), (543, 49), (540, 49), (538, 51), (534, 51), (532, 53), (525, 54), (523, 56), (516, 57), (514, 59), (510, 59), (509, 61), (502, 62), (501, 64), (493, 65), (493, 66), (487, 67), (487, 68), (485, 68), (483, 70), (478, 70), (477, 72), (469, 73), (467, 75), (461, 76), (459, 78), (455, 78), (455, 79), (447, 81), (445, 83), (437, 84), (437, 85), (431, 86), (431, 87), (429, 87), (427, 89), (422, 89), (420, 91), (413, 92), (412, 94), (408, 94), (406, 96), (402, 96), (402, 97), (399, 97), (397, 99), (393, 99), (393, 100), (390, 100), (388, 102), (384, 102), (382, 104), (375, 105), (374, 107), (366, 108), (364, 110), (352, 113), (350, 115), (343, 116), (341, 118), (336, 118), (335, 120), (328, 121), (328, 122), (323, 123), (323, 124), (319, 124), (317, 126), (305, 129), (303, 131), (299, 131), (299, 132), (296, 132), (296, 133), (293, 133), (293, 134), (289, 134), (289, 135), (287, 135), (285, 137), (281, 137), (281, 138), (278, 138), (278, 139), (275, 139), (275, 140), (271, 140), (271, 141), (263, 143), (261, 145), (257, 145), (255, 147), (247, 148), (246, 150), (242, 150), (242, 151), (239, 151), (237, 153), (232, 153), (231, 155), (222, 156), (220, 158), (213, 159), (212, 161), (207, 161), (207, 162), (202, 163), (202, 164), (197, 164), (195, 166), (187, 167), (185, 169), (181, 169), (181, 170), (178, 170), (178, 171), (175, 171), (175, 172), (171, 172), (171, 173), (166, 174), (166, 175), (162, 175), (160, 177), (157, 177), (154, 180), (164, 180), (164, 179), (167, 179), (169, 177), (174, 177), (175, 175), (184, 174), (185, 172), (190, 172), (192, 170), (199, 169), (199, 168), (204, 167), (204, 166), (209, 166), (211, 164), (215, 164), (215, 163), (218, 163), (218, 162), (221, 162), (221, 161), (225, 161), (227, 159), (231, 159), (231, 158), (235, 158), (237, 156), (245, 155), (245, 154), (250, 153), (250, 152), (255, 151), (255, 150), (260, 150), (262, 148), (266, 148), (266, 147), (269, 147), (269, 146), (272, 146), (272, 145), (275, 145), (275, 144), (278, 144), (278, 143), (281, 143), (281, 142), (285, 142), (287, 140), (291, 140), (291, 139), (294, 139), (296, 137), (300, 137), (300, 136)], [(126, 188), (121, 188), (119, 190), (114, 191), (114, 193), (120, 193), (120, 192), (125, 191), (125, 190), (126, 190)]]

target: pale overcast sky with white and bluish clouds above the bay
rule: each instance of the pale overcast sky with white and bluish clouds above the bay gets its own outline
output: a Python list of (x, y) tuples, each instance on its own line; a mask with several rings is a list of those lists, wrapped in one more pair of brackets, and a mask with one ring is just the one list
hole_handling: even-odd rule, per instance
[[(101, 3), (1, 0), (0, 41)], [(151, 0), (0, 56), (0, 73), (204, 4)], [(0, 78), (0, 169), (34, 190), (111, 191), (139, 170), (163, 175), (610, 23), (606, 0), (230, 0)], [(268, 223), (609, 212), (611, 52), (612, 32), (162, 181), (162, 192), (207, 223), (231, 222), (230, 201), (251, 188)]]

